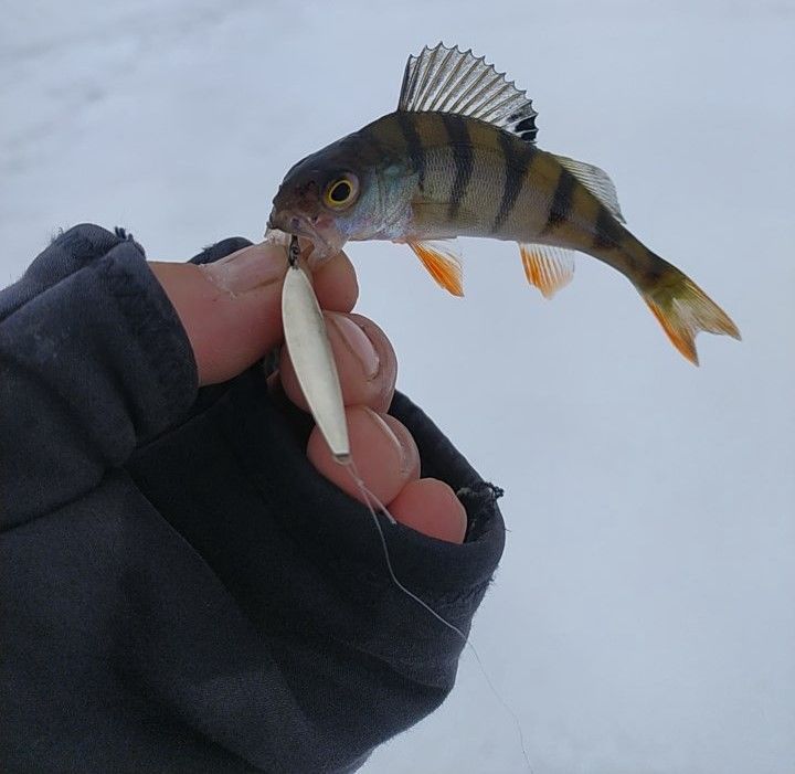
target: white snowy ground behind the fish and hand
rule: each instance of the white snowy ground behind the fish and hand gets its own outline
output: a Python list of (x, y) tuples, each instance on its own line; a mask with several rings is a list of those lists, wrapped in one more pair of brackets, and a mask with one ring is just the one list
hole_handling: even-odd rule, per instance
[[(297, 159), (393, 109), (425, 43), (528, 89), (539, 145), (597, 163), (633, 231), (743, 341), (668, 343), (587, 257), (553, 301), (467, 241), (454, 299), (357, 244), (400, 386), (506, 489), (473, 642), (536, 774), (795, 772), (795, 3), (0, 2), (0, 279), (59, 227), (152, 258), (262, 235)], [(470, 655), (367, 772), (524, 771)]]

